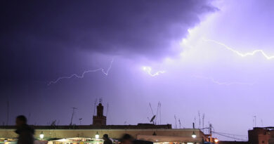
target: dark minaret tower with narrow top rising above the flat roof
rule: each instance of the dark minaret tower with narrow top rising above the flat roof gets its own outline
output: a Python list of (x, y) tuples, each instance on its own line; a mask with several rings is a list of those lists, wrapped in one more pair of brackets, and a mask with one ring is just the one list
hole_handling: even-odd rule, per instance
[(100, 99), (99, 104), (97, 105), (97, 115), (93, 116), (93, 125), (96, 126), (105, 126), (107, 124), (107, 117), (103, 115), (104, 107), (102, 105), (102, 99)]

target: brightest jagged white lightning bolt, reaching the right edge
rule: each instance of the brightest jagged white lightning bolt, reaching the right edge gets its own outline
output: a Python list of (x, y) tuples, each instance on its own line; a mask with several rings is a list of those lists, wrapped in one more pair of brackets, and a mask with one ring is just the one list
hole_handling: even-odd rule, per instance
[(267, 55), (263, 50), (261, 49), (257, 49), (255, 51), (252, 51), (252, 52), (249, 52), (249, 53), (240, 53), (240, 51), (236, 51), (235, 49), (233, 48), (230, 48), (229, 46), (227, 46), (226, 44), (223, 44), (221, 42), (218, 42), (218, 41), (214, 41), (214, 40), (211, 40), (211, 39), (203, 39), (204, 41), (207, 41), (207, 42), (213, 42), (215, 44), (218, 44), (218, 45), (221, 45), (223, 47), (225, 47), (226, 49), (232, 51), (233, 53), (236, 53), (237, 55), (240, 55), (241, 57), (246, 57), (248, 55), (255, 55), (256, 53), (261, 53), (261, 55), (263, 55), (266, 59), (268, 60), (271, 60), (274, 58), (274, 55)]

